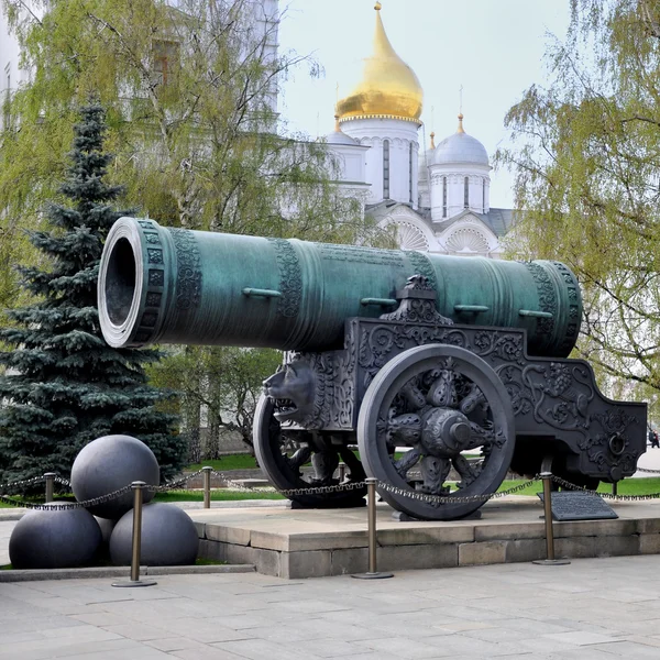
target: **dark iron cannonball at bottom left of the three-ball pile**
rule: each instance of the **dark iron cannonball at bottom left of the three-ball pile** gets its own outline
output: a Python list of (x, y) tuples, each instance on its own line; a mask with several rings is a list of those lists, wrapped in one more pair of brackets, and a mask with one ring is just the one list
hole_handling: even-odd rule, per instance
[[(66, 503), (51, 503), (55, 506)], [(84, 508), (35, 509), (13, 528), (9, 559), (14, 569), (70, 569), (89, 563), (101, 543), (101, 530)]]

